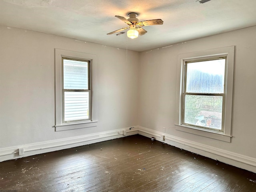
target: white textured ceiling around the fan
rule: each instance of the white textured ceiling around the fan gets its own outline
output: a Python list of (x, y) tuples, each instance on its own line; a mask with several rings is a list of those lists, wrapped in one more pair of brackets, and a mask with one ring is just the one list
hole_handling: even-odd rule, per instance
[[(114, 16), (129, 12), (164, 24), (136, 39), (106, 35), (126, 27)], [(0, 25), (144, 51), (255, 26), (256, 0), (0, 0)]]

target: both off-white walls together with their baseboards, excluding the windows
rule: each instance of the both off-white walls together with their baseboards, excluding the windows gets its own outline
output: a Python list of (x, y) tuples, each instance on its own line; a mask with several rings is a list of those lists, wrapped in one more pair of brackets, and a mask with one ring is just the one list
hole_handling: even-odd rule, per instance
[[(152, 51), (128, 51), (126, 63), (126, 50), (0, 26), (0, 161), (22, 157), (17, 154), (19, 147), (31, 155), (105, 140), (108, 134), (106, 139), (115, 138), (113, 130), (135, 126), (130, 134), (157, 139), (164, 134), (174, 146), (211, 158), (218, 151), (218, 158), (227, 153), (228, 159), (218, 160), (256, 172), (255, 34), (256, 27), (251, 27)], [(176, 130), (178, 54), (233, 45), (231, 143)], [(97, 127), (54, 131), (54, 48), (97, 55)], [(198, 150), (199, 146), (205, 150)]]

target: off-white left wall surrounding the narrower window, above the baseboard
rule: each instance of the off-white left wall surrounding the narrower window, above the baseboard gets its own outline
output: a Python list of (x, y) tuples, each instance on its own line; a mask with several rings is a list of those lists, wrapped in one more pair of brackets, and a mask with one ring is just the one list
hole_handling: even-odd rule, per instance
[[(54, 48), (97, 55), (97, 127), (54, 131)], [(128, 51), (126, 63), (123, 49), (0, 26), (0, 151), (137, 125), (138, 58)]]

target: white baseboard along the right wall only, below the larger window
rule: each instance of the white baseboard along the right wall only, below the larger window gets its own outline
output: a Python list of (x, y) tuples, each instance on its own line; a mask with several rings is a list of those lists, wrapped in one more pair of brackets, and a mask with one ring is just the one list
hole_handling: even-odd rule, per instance
[[(164, 132), (158, 132), (141, 126), (138, 126), (138, 130), (140, 135), (149, 138), (154, 137), (155, 140), (256, 173), (256, 158), (178, 138)], [(161, 136), (164, 136), (164, 140), (160, 139)]]

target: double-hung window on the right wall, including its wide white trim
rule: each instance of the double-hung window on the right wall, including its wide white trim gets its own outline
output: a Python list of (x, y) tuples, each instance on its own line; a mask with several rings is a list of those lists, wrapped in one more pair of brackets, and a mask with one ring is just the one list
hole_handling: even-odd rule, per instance
[(178, 58), (176, 130), (230, 142), (234, 46)]

